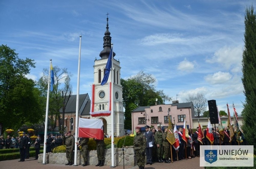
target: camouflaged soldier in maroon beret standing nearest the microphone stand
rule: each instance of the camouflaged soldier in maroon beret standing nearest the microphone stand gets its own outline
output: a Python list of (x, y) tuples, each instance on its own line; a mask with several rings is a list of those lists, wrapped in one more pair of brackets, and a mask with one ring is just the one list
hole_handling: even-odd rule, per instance
[(141, 133), (141, 128), (136, 127), (136, 135), (133, 139), (134, 152), (137, 157), (137, 165), (139, 169), (144, 169), (145, 167), (145, 150), (146, 150), (146, 138)]

